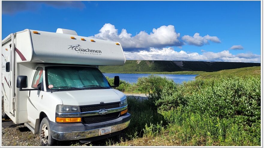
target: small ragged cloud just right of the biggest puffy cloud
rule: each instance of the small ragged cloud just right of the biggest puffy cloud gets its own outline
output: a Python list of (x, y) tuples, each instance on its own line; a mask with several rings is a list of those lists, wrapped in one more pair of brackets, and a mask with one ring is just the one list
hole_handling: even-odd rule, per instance
[(206, 36), (200, 36), (199, 33), (195, 33), (193, 36), (185, 35), (182, 37), (182, 40), (189, 45), (195, 45), (195, 46), (202, 46), (205, 44), (209, 44), (208, 41), (215, 43), (221, 42), (217, 36), (209, 36), (208, 34)]

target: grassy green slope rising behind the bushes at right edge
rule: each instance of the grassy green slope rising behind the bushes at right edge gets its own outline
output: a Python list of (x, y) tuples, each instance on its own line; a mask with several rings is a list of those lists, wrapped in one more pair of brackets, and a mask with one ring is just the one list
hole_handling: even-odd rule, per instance
[(200, 74), (199, 76), (196, 76), (196, 78), (208, 79), (208, 78), (216, 78), (216, 77), (247, 76), (247, 75), (260, 76), (260, 66), (221, 70), (216, 72), (206, 72)]

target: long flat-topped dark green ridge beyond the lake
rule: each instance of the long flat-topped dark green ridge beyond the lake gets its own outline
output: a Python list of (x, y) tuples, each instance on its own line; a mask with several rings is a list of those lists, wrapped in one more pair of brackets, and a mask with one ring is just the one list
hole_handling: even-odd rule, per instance
[(173, 72), (173, 71), (220, 71), (243, 67), (260, 66), (260, 63), (127, 60), (121, 66), (99, 66), (104, 73), (125, 72)]

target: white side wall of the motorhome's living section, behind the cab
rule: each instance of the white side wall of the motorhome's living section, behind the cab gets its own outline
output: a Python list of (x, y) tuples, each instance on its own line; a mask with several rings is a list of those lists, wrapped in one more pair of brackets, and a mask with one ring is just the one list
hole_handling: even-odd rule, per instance
[[(1, 53), (4, 112), (14, 123), (25, 123), (29, 121), (26, 106), (27, 95), (29, 92), (19, 91), (19, 89), (16, 88), (16, 77), (18, 75), (26, 75), (30, 80), (32, 69), (36, 64), (28, 62), (32, 58), (29, 30), (10, 34), (10, 36), (13, 36), (13, 38), (10, 37), (10, 40), (2, 45)], [(6, 71), (7, 62), (10, 63), (9, 71)]]

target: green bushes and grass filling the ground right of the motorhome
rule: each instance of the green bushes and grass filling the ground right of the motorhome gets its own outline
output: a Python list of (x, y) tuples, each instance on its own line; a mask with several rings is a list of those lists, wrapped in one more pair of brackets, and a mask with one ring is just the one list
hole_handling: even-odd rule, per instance
[(128, 97), (131, 123), (105, 145), (260, 146), (260, 67), (246, 70), (182, 84), (154, 75), (135, 84), (121, 81), (119, 90), (146, 93), (149, 99)]

